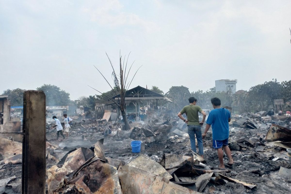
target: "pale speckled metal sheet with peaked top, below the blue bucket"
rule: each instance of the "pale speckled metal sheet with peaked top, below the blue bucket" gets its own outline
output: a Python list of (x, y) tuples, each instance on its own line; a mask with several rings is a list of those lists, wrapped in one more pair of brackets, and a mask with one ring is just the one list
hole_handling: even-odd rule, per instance
[(168, 180), (173, 178), (162, 165), (143, 154), (140, 154), (136, 159), (129, 162), (128, 166), (144, 170), (151, 174), (164, 177)]

